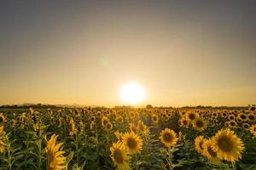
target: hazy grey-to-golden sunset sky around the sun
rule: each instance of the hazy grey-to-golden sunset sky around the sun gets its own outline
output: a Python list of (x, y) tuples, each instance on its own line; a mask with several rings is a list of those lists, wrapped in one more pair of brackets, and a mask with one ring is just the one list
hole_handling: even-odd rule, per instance
[(256, 1), (0, 2), (0, 105), (256, 103)]

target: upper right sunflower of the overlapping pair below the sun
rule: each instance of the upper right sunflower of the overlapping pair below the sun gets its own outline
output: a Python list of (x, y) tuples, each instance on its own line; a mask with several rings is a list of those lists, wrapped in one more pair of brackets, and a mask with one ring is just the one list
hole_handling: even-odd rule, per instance
[(143, 149), (143, 139), (136, 133), (125, 133), (122, 137), (122, 142), (125, 145), (125, 149), (131, 153), (140, 153)]

